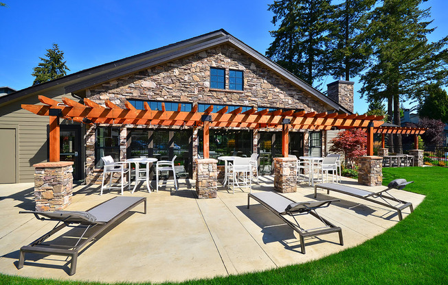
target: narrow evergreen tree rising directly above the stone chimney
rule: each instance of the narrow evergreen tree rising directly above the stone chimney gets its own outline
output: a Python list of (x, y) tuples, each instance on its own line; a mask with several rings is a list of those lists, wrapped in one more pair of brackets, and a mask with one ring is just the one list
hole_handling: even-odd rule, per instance
[(345, 0), (334, 6), (328, 47), (328, 70), (333, 77), (359, 75), (372, 50), (365, 30), (370, 8), (377, 0)]

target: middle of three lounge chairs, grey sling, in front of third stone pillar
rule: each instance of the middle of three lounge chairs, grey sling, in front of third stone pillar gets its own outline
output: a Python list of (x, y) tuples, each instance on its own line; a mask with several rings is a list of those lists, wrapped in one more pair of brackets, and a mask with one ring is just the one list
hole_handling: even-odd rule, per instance
[[(280, 219), (282, 219), (287, 225), (293, 228), (295, 232), (298, 232), (300, 236), (300, 247), (302, 253), (305, 253), (305, 243), (304, 238), (308, 236), (320, 236), (322, 234), (331, 234), (333, 232), (339, 233), (339, 243), (344, 245), (344, 240), (342, 239), (342, 230), (340, 227), (333, 225), (330, 221), (322, 218), (317, 214), (317, 208), (325, 208), (330, 206), (331, 202), (339, 200), (327, 200), (327, 201), (306, 201), (295, 203), (295, 201), (288, 199), (278, 193), (265, 192), (265, 193), (250, 193), (247, 196), (247, 208), (249, 209), (250, 198), (255, 199), (260, 202), (262, 206), (265, 206), (268, 210), (271, 210)], [(311, 214), (315, 216), (316, 219), (323, 223), (322, 227), (315, 227), (310, 230), (305, 230), (302, 228), (297, 221), (296, 217), (300, 214)], [(294, 221), (286, 218), (286, 216), (292, 216)]]

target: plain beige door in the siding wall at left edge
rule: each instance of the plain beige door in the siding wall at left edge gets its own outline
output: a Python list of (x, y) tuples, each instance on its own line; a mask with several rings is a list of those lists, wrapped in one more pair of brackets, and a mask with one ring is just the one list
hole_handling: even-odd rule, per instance
[(16, 129), (0, 129), (0, 184), (16, 183)]

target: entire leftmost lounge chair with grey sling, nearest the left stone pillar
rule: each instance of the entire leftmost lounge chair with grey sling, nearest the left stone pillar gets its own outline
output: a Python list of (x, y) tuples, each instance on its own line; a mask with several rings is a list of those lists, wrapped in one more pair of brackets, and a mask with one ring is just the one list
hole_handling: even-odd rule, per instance
[[(76, 262), (78, 260), (79, 251), (85, 247), (88, 243), (96, 238), (100, 233), (109, 228), (117, 219), (120, 219), (132, 208), (144, 202), (144, 213), (146, 214), (146, 198), (145, 197), (114, 197), (100, 203), (100, 205), (87, 210), (82, 211), (56, 211), (56, 212), (38, 212), (38, 211), (23, 211), (19, 212), (34, 214), (37, 219), (41, 221), (58, 221), (53, 230), (44, 234), (30, 245), (25, 245), (20, 249), (19, 265), (17, 269), (23, 267), (25, 262), (25, 253), (41, 253), (46, 255), (56, 256), (71, 256), (71, 267), (69, 275), (76, 273)], [(85, 227), (85, 231), (76, 241), (74, 245), (52, 245), (45, 243), (45, 240), (62, 230), (65, 227)], [(83, 238), (87, 230), (92, 229), (91, 234)]]

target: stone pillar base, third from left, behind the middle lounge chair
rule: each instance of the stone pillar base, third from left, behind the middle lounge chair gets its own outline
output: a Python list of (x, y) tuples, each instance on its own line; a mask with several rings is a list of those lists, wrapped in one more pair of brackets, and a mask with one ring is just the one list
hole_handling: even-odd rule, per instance
[(297, 192), (297, 160), (273, 159), (273, 188), (281, 193)]

